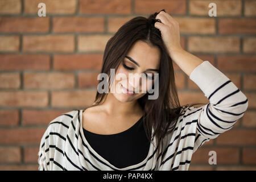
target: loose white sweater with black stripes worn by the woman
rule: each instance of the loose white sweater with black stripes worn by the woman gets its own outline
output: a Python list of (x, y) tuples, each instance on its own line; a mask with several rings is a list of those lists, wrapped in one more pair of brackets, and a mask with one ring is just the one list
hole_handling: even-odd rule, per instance
[(49, 123), (40, 142), (38, 169), (188, 170), (192, 154), (205, 142), (232, 129), (248, 107), (245, 94), (209, 61), (198, 65), (189, 78), (199, 86), (209, 103), (184, 108), (174, 131), (164, 139), (161, 154), (156, 155), (155, 145), (151, 143), (142, 162), (117, 168), (97, 154), (86, 141), (82, 130), (84, 110), (72, 110)]

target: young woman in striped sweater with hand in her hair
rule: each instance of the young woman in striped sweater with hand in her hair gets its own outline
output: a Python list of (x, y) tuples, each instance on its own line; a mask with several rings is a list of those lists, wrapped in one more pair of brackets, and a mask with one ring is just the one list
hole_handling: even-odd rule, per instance
[[(172, 61), (208, 104), (180, 106)], [(111, 68), (143, 73), (146, 82), (114, 77), (106, 87), (115, 85), (114, 93), (97, 92), (92, 106), (53, 119), (40, 142), (39, 170), (188, 170), (193, 152), (230, 130), (248, 106), (228, 77), (181, 48), (179, 23), (164, 10), (119, 28), (104, 52), (101, 73), (109, 80)], [(145, 85), (158, 97), (149, 99)]]

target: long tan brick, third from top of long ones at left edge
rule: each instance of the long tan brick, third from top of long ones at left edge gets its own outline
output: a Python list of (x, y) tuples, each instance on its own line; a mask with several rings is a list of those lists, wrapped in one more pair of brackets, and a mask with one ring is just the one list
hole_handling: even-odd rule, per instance
[(9, 91), (0, 92), (0, 106), (47, 106), (47, 92)]

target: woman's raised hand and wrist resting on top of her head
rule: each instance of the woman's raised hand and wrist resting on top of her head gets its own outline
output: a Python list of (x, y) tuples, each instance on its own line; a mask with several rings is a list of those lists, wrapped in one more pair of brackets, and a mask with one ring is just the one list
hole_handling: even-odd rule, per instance
[(163, 42), (168, 49), (170, 56), (172, 57), (176, 51), (183, 50), (180, 45), (179, 23), (164, 11), (160, 11), (155, 19), (159, 19), (162, 22), (155, 22), (155, 27), (160, 30)]

